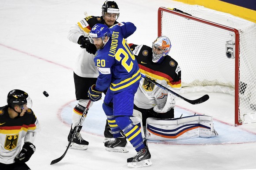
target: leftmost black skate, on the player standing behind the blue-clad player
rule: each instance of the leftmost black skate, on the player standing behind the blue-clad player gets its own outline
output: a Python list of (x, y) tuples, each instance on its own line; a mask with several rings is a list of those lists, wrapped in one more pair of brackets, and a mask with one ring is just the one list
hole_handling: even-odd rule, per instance
[[(78, 150), (86, 150), (88, 149), (88, 145), (89, 142), (87, 142), (86, 140), (84, 140), (80, 134), (82, 126), (79, 126), (77, 129), (77, 133), (74, 135), (73, 141), (70, 145), (71, 149), (78, 149)], [(74, 129), (71, 129), (69, 131), (69, 135), (68, 135), (68, 142), (71, 141), (72, 135), (74, 134), (76, 127), (74, 127)]]

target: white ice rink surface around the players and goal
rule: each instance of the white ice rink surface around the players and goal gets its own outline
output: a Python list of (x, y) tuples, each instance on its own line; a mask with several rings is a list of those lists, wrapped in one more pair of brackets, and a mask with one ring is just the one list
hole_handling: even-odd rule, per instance
[[(182, 4), (172, 0), (116, 2), (120, 9), (118, 21), (130, 21), (137, 27), (128, 37), (128, 43), (148, 46), (157, 37), (158, 7)], [(0, 0), (0, 103), (7, 104), (7, 93), (12, 89), (26, 91), (33, 100), (32, 109), (41, 131), (34, 143), (37, 150), (27, 163), (32, 170), (127, 170), (127, 158), (136, 154), (129, 143), (128, 153), (104, 149), (106, 116), (100, 100), (89, 110), (81, 131), (89, 142), (88, 149), (69, 149), (59, 163), (50, 165), (66, 150), (71, 112), (76, 105), (73, 65), (80, 47), (69, 42), (67, 32), (84, 18), (85, 11), (100, 16), (103, 3), (104, 0)], [(148, 141), (153, 165), (141, 169), (256, 169), (256, 124), (234, 127), (234, 96), (205, 92), (182, 95), (196, 99), (204, 94), (210, 99), (197, 106), (177, 99), (175, 117), (194, 113), (210, 115), (219, 135), (171, 142)]]

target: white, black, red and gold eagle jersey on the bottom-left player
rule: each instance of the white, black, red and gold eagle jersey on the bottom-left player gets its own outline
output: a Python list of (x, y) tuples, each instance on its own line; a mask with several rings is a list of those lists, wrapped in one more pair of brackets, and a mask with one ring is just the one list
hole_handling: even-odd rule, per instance
[(22, 139), (33, 144), (40, 126), (31, 109), (14, 119), (9, 117), (7, 109), (8, 106), (0, 107), (0, 163), (11, 164), (21, 151)]

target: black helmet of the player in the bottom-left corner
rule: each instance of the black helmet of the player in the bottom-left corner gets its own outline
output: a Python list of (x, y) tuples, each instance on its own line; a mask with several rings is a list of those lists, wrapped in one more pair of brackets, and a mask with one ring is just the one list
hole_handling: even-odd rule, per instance
[(26, 92), (18, 89), (12, 90), (8, 93), (7, 103), (11, 108), (14, 108), (15, 105), (22, 107), (26, 103), (29, 103), (32, 106), (32, 101), (29, 98), (29, 95)]

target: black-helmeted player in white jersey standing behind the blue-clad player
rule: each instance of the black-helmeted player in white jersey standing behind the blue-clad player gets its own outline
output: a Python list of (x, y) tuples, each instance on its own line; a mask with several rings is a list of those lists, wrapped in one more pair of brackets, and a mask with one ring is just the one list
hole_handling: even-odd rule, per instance
[[(72, 113), (72, 125), (68, 135), (68, 141), (70, 142), (74, 129), (76, 128), (87, 104), (89, 101), (87, 89), (96, 83), (97, 77), (99, 76), (99, 71), (95, 67), (94, 54), (96, 52), (96, 47), (94, 44), (90, 43), (89, 32), (91, 28), (100, 23), (111, 27), (117, 24), (116, 21), (119, 16), (119, 8), (114, 1), (105, 1), (102, 5), (102, 16), (88, 16), (77, 24), (72, 25), (68, 33), (68, 39), (80, 45), (82, 48), (79, 56), (76, 60), (76, 66), (74, 68), (74, 83), (76, 90), (76, 98), (78, 100), (77, 106), (74, 107)], [(92, 106), (91, 102), (91, 105)], [(86, 115), (84, 116), (86, 117)], [(84, 119), (83, 119), (84, 121)], [(83, 122), (82, 122), (83, 123)], [(84, 140), (80, 135), (80, 126), (75, 134), (70, 148), (85, 150), (88, 148), (89, 142)]]

